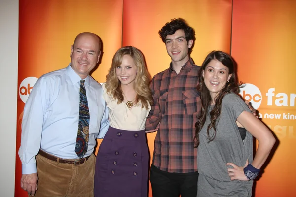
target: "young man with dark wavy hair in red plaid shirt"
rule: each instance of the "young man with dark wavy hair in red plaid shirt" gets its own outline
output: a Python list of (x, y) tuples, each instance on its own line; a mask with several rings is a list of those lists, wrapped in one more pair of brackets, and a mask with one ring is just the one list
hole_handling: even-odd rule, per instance
[[(146, 131), (155, 131), (150, 171), (153, 197), (196, 197), (197, 149), (194, 124), (201, 103), (198, 84), (199, 66), (189, 54), (195, 33), (182, 18), (173, 19), (159, 31), (171, 57), (170, 67), (156, 74), (151, 82), (154, 105)], [(148, 131), (149, 132), (149, 131)]]

